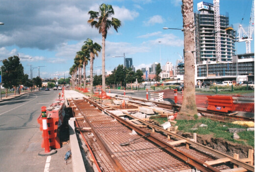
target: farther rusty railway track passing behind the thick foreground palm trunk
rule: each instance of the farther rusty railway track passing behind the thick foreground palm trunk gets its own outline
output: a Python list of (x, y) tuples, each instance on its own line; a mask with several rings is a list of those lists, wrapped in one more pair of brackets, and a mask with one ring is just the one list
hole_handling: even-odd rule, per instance
[[(122, 95), (116, 95), (111, 96), (113, 99), (126, 99), (127, 101), (133, 102), (135, 104), (138, 104), (139, 106), (152, 106), (148, 105), (146, 102), (152, 102), (159, 108), (164, 108), (167, 110), (173, 110), (176, 112), (180, 111), (181, 105), (180, 104), (166, 104), (162, 102), (156, 102), (152, 100), (146, 100), (146, 99), (140, 99), (140, 98), (134, 98), (134, 97), (128, 97), (128, 96), (122, 96)], [(243, 120), (243, 121), (255, 121), (254, 118), (251, 117), (245, 117), (245, 116), (237, 116), (237, 112), (232, 113), (222, 113), (222, 112), (214, 112), (214, 111), (208, 111), (206, 108), (197, 108), (198, 112), (208, 118), (219, 120), (219, 121), (236, 121), (236, 120)]]

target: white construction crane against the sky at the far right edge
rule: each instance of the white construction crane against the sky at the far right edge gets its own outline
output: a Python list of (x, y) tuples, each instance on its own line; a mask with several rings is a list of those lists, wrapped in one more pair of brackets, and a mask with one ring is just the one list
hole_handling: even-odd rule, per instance
[(251, 53), (251, 41), (253, 40), (252, 34), (254, 31), (254, 20), (255, 20), (254, 8), (255, 7), (254, 7), (254, 0), (253, 0), (248, 32), (246, 32), (245, 29), (243, 29), (241, 24), (239, 24), (238, 26), (238, 32), (239, 32), (238, 42), (245, 41), (247, 54)]

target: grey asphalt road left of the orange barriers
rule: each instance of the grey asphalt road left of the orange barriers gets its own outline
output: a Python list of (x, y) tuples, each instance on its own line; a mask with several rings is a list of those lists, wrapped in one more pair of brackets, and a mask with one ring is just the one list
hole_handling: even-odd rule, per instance
[[(39, 156), (42, 131), (37, 118), (42, 106), (50, 106), (60, 91), (38, 91), (0, 102), (0, 171), (44, 172), (47, 156)], [(66, 146), (66, 147), (65, 147)], [(70, 172), (72, 165), (65, 165), (66, 144), (51, 155), (51, 172)], [(68, 169), (69, 168), (69, 169)]]

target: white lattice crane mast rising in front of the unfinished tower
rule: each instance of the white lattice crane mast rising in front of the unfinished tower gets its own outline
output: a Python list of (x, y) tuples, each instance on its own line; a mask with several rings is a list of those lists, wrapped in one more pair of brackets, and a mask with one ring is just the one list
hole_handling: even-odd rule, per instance
[(216, 61), (221, 62), (220, 0), (213, 0)]

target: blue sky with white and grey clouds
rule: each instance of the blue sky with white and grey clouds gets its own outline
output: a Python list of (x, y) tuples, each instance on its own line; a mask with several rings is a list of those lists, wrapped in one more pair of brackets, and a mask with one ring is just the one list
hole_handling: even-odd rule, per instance
[[(194, 12), (201, 1), (194, 0)], [(38, 73), (41, 78), (67, 78), (87, 38), (102, 46), (102, 34), (87, 23), (88, 11), (98, 11), (102, 3), (112, 5), (113, 17), (122, 24), (118, 32), (111, 28), (107, 33), (107, 74), (124, 64), (123, 57), (114, 56), (132, 58), (136, 70), (154, 62), (176, 64), (181, 59), (183, 32), (162, 29), (182, 29), (181, 0), (1, 0), (0, 59), (19, 54), (25, 74), (30, 76), (31, 67), (33, 78)], [(252, 0), (220, 0), (220, 14), (229, 14), (235, 30), (239, 24), (248, 30), (251, 7)], [(237, 54), (244, 54), (245, 42), (237, 43), (236, 49)], [(102, 74), (102, 53), (95, 58), (94, 71)]]

